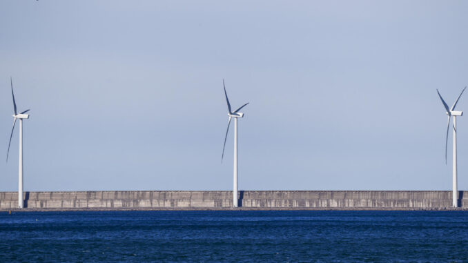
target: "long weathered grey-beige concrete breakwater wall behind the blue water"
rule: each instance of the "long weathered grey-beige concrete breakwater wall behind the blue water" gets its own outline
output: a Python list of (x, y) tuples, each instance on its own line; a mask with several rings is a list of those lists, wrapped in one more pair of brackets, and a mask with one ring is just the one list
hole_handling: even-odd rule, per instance
[[(451, 191), (239, 191), (240, 209), (449, 209)], [(458, 203), (468, 208), (459, 191)], [(232, 191), (25, 192), (25, 210), (231, 209)], [(18, 206), (17, 192), (0, 192), (0, 210)]]

